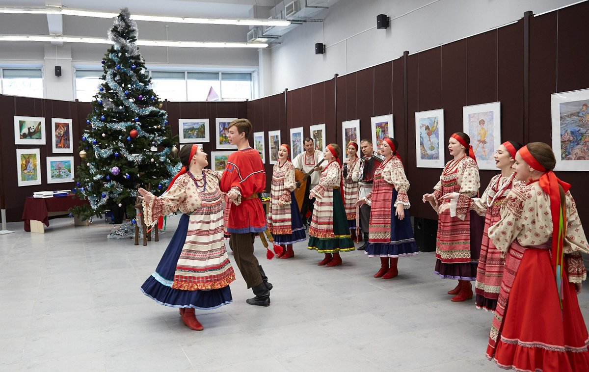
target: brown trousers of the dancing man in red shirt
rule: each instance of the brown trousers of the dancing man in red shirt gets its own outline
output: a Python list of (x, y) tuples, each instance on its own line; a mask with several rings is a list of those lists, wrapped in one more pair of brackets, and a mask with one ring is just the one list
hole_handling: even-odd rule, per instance
[(262, 275), (258, 268), (258, 261), (254, 255), (254, 240), (256, 234), (235, 234), (229, 237), (229, 247), (233, 251), (235, 264), (241, 271), (241, 276), (246, 281), (247, 288), (256, 287), (262, 284)]

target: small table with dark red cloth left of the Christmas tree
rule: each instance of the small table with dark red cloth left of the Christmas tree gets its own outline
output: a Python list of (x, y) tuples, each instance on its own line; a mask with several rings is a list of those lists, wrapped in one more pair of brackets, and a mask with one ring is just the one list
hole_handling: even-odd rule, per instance
[[(77, 205), (88, 204), (87, 200), (74, 198), (74, 195), (67, 197), (34, 198), (27, 197), (25, 207), (22, 211), (22, 220), (25, 221), (25, 231), (31, 233), (45, 233), (43, 224), (49, 226), (49, 217), (68, 214), (68, 210)], [(84, 221), (81, 225), (87, 225)], [(75, 223), (78, 225), (78, 223)]]

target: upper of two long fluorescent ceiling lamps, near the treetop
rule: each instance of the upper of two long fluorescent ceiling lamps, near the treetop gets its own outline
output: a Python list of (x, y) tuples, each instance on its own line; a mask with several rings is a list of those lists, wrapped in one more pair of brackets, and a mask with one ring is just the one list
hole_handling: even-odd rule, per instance
[[(118, 13), (98, 12), (84, 9), (69, 9), (57, 6), (47, 6), (45, 8), (0, 8), (0, 13), (11, 14), (62, 14), (77, 15), (94, 18), (116, 18)], [(260, 18), (190, 18), (158, 15), (140, 15), (131, 14), (131, 19), (135, 21), (153, 21), (168, 23), (187, 23), (187, 24), (207, 24), (207, 25), (237, 25), (237, 26), (278, 26), (286, 27), (290, 21), (286, 19), (260, 19)]]

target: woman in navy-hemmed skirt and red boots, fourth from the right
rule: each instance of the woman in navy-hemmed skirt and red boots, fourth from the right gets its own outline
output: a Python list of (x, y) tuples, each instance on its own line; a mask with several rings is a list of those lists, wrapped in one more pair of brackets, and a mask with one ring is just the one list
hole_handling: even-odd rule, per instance
[(399, 256), (418, 254), (408, 211), (411, 207), (407, 196), (409, 181), (397, 147), (394, 138), (380, 142), (380, 154), (385, 160), (374, 172), (372, 192), (358, 200), (358, 205), (368, 203), (371, 206), (365, 253), (369, 257), (380, 257), (380, 270), (374, 274), (375, 278), (396, 277)]

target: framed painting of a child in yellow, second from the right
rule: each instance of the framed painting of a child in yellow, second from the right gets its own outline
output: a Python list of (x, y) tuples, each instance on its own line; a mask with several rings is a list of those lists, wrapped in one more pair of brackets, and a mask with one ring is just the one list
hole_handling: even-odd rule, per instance
[(501, 145), (501, 102), (462, 107), (464, 132), (482, 170), (497, 170), (495, 150)]

